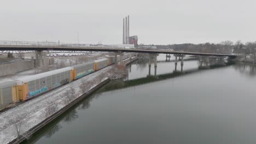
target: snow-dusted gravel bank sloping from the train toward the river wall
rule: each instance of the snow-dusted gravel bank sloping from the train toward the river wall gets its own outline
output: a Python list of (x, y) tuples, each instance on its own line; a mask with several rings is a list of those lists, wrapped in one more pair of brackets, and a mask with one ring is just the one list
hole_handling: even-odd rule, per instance
[[(99, 83), (107, 79), (104, 73), (108, 73), (114, 66), (111, 65), (102, 70), (96, 71), (88, 76), (68, 83), (65, 86), (54, 89), (53, 91), (40, 95), (26, 103), (18, 105), (13, 109), (0, 113), (0, 142), (9, 143), (20, 135), (26, 136), (26, 133), (37, 124), (44, 121), (52, 115), (47, 113), (47, 107), (56, 105), (55, 112), (61, 110), (67, 104), (80, 97), (84, 92), (81, 87), (86, 86), (87, 91), (97, 86)], [(101, 79), (98, 79), (100, 77)], [(90, 85), (88, 84), (90, 83)], [(71, 94), (70, 89), (74, 89), (72, 99), (67, 99), (67, 94)], [(20, 126), (20, 131), (17, 130), (17, 125)]]

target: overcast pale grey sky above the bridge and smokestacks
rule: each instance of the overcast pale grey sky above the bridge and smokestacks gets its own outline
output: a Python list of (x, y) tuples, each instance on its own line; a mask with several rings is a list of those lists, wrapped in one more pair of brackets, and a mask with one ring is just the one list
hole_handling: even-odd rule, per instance
[(0, 40), (119, 44), (128, 14), (139, 44), (256, 40), (255, 0), (1, 0)]

